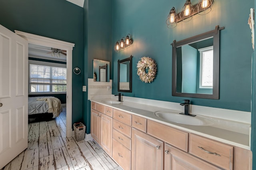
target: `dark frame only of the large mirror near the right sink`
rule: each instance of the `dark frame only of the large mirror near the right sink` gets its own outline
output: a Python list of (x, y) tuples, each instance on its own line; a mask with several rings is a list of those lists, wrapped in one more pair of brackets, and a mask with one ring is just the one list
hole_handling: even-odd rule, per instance
[[(173, 41), (172, 45), (172, 96), (179, 97), (195, 97), (204, 99), (219, 99), (219, 72), (220, 72), (220, 30), (224, 27), (215, 27), (215, 30), (199, 34), (197, 36), (181, 40), (179, 42)], [(182, 45), (199, 42), (208, 38), (213, 38), (213, 89), (212, 94), (200, 93), (179, 93), (177, 89), (177, 53), (176, 48)]]

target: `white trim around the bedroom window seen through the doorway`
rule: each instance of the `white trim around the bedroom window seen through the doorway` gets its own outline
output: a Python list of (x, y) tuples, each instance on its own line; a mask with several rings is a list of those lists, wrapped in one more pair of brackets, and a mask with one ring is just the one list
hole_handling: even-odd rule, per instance
[[(30, 84), (30, 64), (67, 68), (66, 64), (62, 64), (62, 63), (51, 63), (51, 62), (46, 62), (46, 61), (28, 60), (28, 94), (29, 95), (66, 94), (66, 92), (31, 92), (30, 91), (30, 85), (31, 85)], [(60, 85), (62, 85), (62, 84), (60, 84)], [(67, 85), (67, 84), (65, 84), (65, 85)]]

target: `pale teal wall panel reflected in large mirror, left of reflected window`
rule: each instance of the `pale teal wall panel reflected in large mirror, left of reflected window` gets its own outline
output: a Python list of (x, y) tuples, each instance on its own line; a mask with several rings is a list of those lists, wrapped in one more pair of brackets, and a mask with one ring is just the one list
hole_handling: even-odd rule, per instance
[(196, 93), (197, 49), (182, 46), (182, 93)]

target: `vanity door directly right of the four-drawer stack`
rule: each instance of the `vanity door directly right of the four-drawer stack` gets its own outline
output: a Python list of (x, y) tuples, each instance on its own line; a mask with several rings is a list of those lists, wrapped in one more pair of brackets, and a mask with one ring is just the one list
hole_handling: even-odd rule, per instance
[(132, 170), (163, 170), (164, 142), (132, 128)]

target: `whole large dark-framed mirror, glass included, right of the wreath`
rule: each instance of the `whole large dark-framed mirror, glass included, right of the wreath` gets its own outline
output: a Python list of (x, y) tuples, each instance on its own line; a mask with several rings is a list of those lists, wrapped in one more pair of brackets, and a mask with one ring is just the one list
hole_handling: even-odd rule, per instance
[(172, 95), (219, 99), (220, 30), (200, 34), (172, 45)]

